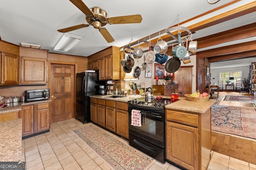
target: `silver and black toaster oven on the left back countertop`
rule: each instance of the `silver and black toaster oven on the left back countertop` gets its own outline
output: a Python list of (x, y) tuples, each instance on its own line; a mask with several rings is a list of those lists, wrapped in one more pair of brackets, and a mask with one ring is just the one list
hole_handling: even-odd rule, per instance
[(26, 90), (26, 101), (44, 100), (50, 98), (50, 89)]

